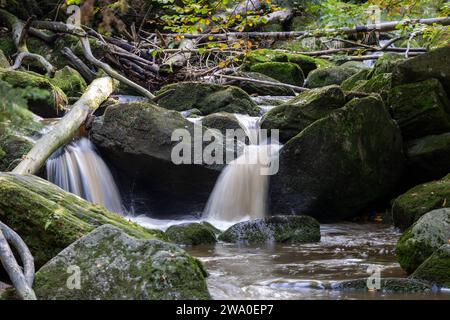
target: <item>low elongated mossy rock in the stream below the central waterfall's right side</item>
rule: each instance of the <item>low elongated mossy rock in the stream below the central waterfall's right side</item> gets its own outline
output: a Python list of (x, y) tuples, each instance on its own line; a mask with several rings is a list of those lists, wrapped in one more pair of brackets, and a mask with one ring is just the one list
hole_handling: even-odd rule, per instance
[(320, 241), (320, 225), (309, 216), (272, 216), (239, 222), (219, 236), (225, 242), (311, 243)]

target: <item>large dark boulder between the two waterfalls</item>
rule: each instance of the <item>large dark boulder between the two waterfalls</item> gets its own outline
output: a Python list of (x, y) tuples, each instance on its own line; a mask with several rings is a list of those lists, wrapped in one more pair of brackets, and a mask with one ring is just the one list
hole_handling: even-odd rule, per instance
[[(180, 142), (178, 136), (172, 141), (176, 129), (185, 130), (191, 141)], [(215, 137), (225, 148), (223, 136)], [(117, 173), (125, 202), (138, 212), (166, 218), (201, 213), (223, 168), (204, 161), (194, 164), (194, 145), (209, 144), (202, 138), (179, 112), (141, 102), (109, 106), (91, 130), (93, 143)], [(172, 150), (181, 144), (191, 150), (190, 161), (175, 164)]]

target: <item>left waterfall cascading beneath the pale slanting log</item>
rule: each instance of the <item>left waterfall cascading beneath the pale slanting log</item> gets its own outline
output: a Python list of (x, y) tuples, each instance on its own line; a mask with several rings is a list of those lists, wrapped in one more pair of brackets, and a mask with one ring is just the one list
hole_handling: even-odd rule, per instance
[(119, 190), (94, 145), (81, 138), (56, 151), (46, 163), (47, 180), (110, 211), (123, 212)]

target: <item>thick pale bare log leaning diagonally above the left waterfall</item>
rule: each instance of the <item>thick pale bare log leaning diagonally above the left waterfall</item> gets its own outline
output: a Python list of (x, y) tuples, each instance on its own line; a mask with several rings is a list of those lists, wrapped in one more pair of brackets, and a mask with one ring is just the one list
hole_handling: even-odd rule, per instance
[(87, 116), (94, 112), (100, 104), (113, 92), (114, 81), (110, 77), (95, 79), (81, 98), (75, 102), (72, 109), (39, 139), (34, 147), (12, 172), (19, 174), (35, 174), (45, 164), (45, 161), (60, 146), (64, 145), (77, 132)]

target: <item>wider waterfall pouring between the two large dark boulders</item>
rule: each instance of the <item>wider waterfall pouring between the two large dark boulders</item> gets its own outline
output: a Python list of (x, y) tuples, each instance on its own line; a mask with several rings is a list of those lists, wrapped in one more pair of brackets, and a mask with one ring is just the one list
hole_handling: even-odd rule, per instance
[(240, 114), (236, 117), (250, 145), (220, 174), (203, 211), (208, 220), (240, 221), (267, 215), (269, 176), (262, 174), (261, 169), (278, 152), (279, 145), (261, 141), (259, 117)]

